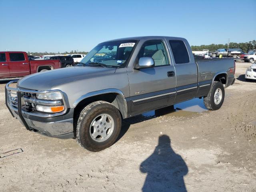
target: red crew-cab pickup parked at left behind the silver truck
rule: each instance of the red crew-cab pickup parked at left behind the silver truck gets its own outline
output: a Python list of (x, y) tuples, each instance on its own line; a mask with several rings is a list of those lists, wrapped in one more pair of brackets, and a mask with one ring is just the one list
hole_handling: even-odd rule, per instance
[(23, 77), (61, 68), (60, 60), (29, 60), (26, 52), (0, 52), (0, 78)]

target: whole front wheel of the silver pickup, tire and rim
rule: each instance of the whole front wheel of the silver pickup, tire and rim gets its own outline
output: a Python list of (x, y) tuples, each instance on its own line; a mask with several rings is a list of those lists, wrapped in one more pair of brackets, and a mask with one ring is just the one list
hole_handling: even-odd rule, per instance
[(89, 151), (110, 147), (121, 130), (122, 118), (118, 109), (105, 101), (92, 102), (80, 113), (76, 126), (76, 141)]

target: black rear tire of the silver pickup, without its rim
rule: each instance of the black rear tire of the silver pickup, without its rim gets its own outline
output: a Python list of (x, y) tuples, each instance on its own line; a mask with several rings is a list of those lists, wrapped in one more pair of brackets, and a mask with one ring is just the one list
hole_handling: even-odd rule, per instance
[[(216, 104), (214, 102), (214, 93), (216, 92), (216, 90), (218, 88), (220, 88), (220, 90), (222, 91), (222, 98), (220, 100), (220, 103)], [(214, 81), (212, 83), (212, 87), (210, 89), (210, 92), (208, 93), (208, 95), (206, 97), (204, 97), (204, 106), (208, 110), (218, 110), (223, 104), (224, 97), (225, 97), (225, 90), (224, 90), (223, 84), (219, 81)]]

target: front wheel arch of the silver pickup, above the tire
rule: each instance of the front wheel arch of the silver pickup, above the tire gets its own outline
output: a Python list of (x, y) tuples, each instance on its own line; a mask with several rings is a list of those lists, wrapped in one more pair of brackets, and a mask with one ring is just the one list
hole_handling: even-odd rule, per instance
[(78, 98), (73, 104), (74, 118), (79, 115), (80, 110), (82, 110), (84, 106), (98, 100), (109, 102), (110, 104), (115, 106), (120, 111), (122, 118), (128, 117), (128, 106), (122, 91), (118, 89), (106, 89), (96, 92), (90, 92)]

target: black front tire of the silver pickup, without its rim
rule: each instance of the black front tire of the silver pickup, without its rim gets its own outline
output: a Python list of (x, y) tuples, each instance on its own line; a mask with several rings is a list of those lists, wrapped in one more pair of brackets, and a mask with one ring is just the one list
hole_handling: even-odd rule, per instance
[[(91, 123), (100, 114), (109, 114), (114, 121), (112, 134), (105, 141), (98, 142), (93, 140), (90, 135)], [(122, 118), (118, 109), (105, 101), (96, 101), (87, 105), (80, 113), (76, 126), (76, 142), (89, 151), (96, 152), (110, 147), (120, 134)]]

